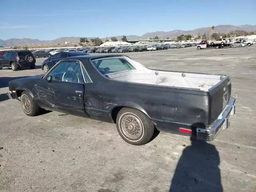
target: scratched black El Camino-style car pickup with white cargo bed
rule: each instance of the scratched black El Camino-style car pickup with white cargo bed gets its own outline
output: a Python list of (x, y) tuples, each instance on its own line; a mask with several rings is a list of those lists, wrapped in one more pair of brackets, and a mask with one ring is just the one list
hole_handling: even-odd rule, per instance
[(47, 74), (10, 81), (7, 92), (28, 116), (44, 108), (116, 123), (134, 145), (155, 128), (214, 140), (235, 113), (231, 93), (228, 75), (152, 70), (120, 54), (66, 58)]

